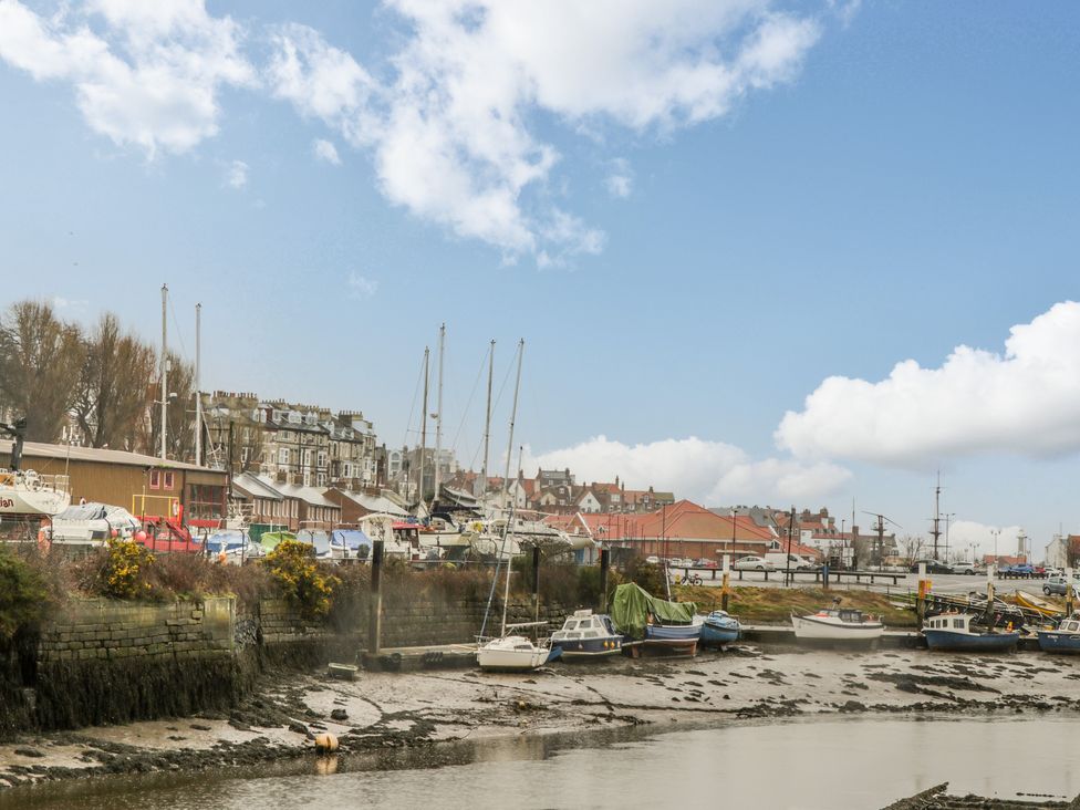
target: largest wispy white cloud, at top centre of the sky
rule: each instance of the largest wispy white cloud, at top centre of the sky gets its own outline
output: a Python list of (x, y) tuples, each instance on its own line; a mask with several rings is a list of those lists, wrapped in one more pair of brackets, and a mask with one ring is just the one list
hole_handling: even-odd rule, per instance
[[(273, 92), (371, 149), (393, 204), (541, 264), (596, 252), (603, 235), (546, 201), (560, 155), (536, 135), (538, 114), (638, 132), (715, 118), (790, 81), (820, 34), (767, 0), (386, 4), (408, 33), (385, 80), (288, 25), (274, 35)], [(620, 177), (615, 194), (629, 193)]]

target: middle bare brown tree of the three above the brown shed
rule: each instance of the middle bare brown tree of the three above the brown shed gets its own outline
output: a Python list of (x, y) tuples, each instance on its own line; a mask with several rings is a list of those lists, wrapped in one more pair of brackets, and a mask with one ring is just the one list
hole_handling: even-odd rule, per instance
[(149, 405), (154, 350), (123, 334), (116, 315), (106, 313), (86, 340), (85, 361), (74, 415), (91, 447), (133, 449), (139, 419)]

